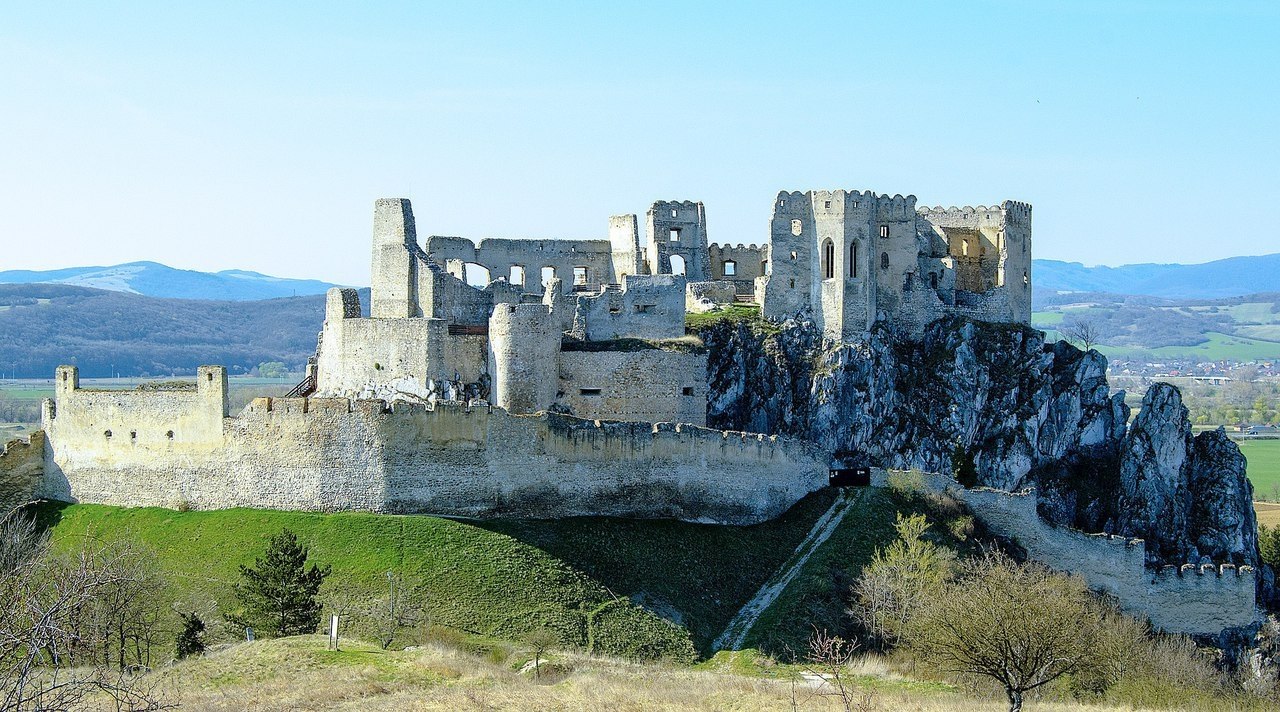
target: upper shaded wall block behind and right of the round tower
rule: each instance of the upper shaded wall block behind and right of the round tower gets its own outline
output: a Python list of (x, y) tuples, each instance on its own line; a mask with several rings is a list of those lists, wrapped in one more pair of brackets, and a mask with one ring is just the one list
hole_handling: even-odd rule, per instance
[(572, 333), (588, 341), (685, 336), (685, 278), (627, 275), (621, 289), (579, 295)]

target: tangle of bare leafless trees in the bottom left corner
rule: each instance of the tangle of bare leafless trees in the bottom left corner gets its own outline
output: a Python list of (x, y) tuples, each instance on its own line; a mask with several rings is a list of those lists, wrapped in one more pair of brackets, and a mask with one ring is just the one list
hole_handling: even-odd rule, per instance
[(91, 694), (118, 708), (161, 708), (145, 679), (100, 654), (97, 613), (109, 589), (131, 585), (131, 549), (84, 538), (55, 556), (26, 516), (0, 524), (0, 708), (67, 709)]

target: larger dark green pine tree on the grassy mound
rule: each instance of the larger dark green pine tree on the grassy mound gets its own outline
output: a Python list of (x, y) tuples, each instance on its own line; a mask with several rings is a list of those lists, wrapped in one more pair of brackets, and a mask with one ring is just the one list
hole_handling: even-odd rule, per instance
[(252, 627), (260, 636), (305, 635), (320, 626), (320, 601), (316, 594), (332, 567), (315, 563), (307, 570), (307, 547), (288, 529), (266, 547), (266, 556), (252, 567), (241, 565), (236, 599), (243, 613), (228, 616), (236, 624)]

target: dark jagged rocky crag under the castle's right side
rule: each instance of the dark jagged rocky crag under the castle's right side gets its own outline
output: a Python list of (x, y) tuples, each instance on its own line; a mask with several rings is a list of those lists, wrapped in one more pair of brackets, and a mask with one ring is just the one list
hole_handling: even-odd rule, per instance
[(1097, 351), (963, 319), (920, 339), (877, 327), (824, 342), (801, 320), (724, 320), (700, 336), (713, 428), (797, 435), (852, 464), (954, 473), (966, 487), (1037, 487), (1044, 519), (1147, 539), (1152, 565), (1258, 565), (1235, 444), (1193, 437), (1167, 384), (1126, 426)]

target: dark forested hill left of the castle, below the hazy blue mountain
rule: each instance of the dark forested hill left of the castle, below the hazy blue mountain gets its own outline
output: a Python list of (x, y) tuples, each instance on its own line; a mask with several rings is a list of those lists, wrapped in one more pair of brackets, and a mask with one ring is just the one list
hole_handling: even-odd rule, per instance
[[(361, 293), (369, 303), (369, 291)], [(0, 284), (0, 371), (52, 378), (74, 364), (88, 378), (193, 373), (264, 361), (298, 370), (315, 352), (324, 295), (261, 301), (147, 297), (61, 284)]]

